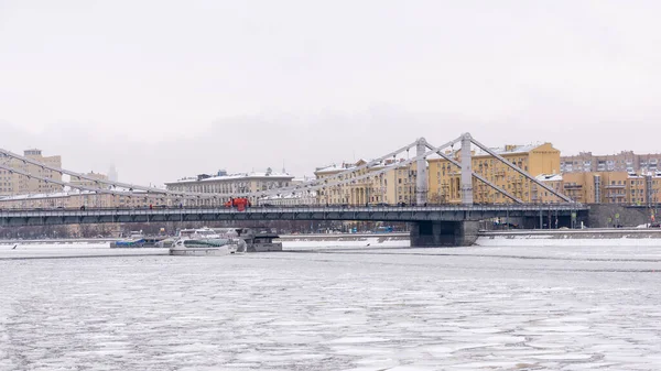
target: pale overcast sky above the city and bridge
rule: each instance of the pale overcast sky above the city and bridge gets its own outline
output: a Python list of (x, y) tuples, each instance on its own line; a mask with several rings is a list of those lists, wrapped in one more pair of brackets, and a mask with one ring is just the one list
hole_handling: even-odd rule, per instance
[(0, 0), (0, 148), (161, 184), (469, 131), (661, 152), (661, 1)]

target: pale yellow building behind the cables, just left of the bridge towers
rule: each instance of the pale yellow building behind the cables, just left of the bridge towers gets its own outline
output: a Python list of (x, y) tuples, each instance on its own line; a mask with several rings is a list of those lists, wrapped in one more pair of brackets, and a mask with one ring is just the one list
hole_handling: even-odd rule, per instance
[[(401, 161), (399, 161), (401, 162)], [(317, 179), (325, 179), (337, 174), (365, 165), (367, 161), (359, 160), (355, 163), (342, 163), (317, 167), (314, 175)], [(343, 185), (336, 185), (317, 192), (319, 205), (378, 205), (378, 204), (413, 204), (415, 203), (415, 164), (397, 165), (398, 161), (388, 160), (376, 166), (362, 168), (351, 173), (350, 177), (360, 177), (375, 173)], [(392, 168), (376, 174), (384, 167)], [(344, 181), (334, 178), (330, 183)]]

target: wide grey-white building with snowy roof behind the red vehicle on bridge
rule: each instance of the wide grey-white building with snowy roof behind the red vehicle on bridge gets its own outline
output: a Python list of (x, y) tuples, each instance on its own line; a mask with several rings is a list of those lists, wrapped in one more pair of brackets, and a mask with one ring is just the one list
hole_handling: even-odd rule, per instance
[[(167, 190), (186, 193), (215, 193), (224, 195), (240, 195), (242, 193), (256, 193), (292, 185), (294, 176), (286, 173), (274, 173), (270, 168), (264, 173), (227, 174), (219, 171), (216, 175), (201, 174), (196, 177), (186, 177), (176, 182), (166, 183)], [(184, 205), (197, 206), (221, 206), (231, 196), (218, 198), (206, 198), (199, 200), (182, 200)], [(250, 200), (257, 204), (257, 199)]]

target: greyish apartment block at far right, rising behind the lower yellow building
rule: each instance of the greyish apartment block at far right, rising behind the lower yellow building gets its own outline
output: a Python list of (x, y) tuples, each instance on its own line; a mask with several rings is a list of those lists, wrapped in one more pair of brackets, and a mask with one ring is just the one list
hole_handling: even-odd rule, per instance
[(622, 151), (618, 154), (594, 155), (592, 152), (581, 152), (577, 155), (562, 156), (560, 171), (564, 173), (595, 172), (657, 172), (661, 170), (661, 153), (636, 154), (633, 151)]

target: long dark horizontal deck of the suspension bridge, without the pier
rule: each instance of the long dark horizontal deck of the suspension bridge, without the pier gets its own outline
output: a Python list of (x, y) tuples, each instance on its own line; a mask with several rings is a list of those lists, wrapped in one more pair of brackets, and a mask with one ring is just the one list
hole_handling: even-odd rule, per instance
[(2, 210), (0, 227), (102, 222), (167, 222), (215, 220), (362, 220), (362, 221), (462, 221), (496, 217), (537, 217), (550, 214), (568, 217), (587, 212), (578, 204), (508, 206), (408, 206), (408, 207), (250, 207), (86, 209), (86, 210)]

